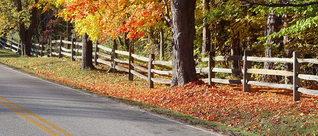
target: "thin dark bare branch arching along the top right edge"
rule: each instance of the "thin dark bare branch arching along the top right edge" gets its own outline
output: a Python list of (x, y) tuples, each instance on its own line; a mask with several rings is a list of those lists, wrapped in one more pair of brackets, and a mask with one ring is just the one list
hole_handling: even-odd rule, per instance
[(316, 5), (318, 4), (318, 1), (315, 2), (309, 2), (309, 3), (300, 3), (300, 4), (292, 4), (289, 2), (292, 1), (286, 1), (283, 0), (281, 3), (264, 3), (264, 2), (252, 2), (249, 0), (239, 0), (248, 4), (253, 4), (253, 5), (260, 5), (260, 6), (266, 6), (266, 7), (304, 7), (304, 6), (310, 6), (310, 5)]

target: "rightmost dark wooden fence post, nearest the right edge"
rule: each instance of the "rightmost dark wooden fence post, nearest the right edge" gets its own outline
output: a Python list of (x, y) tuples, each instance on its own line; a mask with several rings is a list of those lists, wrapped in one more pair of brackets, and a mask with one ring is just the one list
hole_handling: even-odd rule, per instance
[(301, 86), (300, 78), (298, 74), (300, 74), (300, 63), (298, 63), (298, 58), (300, 58), (300, 52), (294, 52), (294, 74), (293, 74), (293, 91), (294, 91), (294, 101), (300, 100), (300, 92), (298, 92), (298, 88)]

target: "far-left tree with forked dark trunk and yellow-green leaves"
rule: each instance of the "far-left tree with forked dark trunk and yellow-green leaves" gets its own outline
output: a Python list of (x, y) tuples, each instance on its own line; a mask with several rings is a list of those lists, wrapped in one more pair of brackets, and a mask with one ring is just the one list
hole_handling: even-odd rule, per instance
[(46, 11), (51, 7), (51, 0), (1, 0), (0, 34), (18, 32), (22, 54), (31, 56), (31, 40), (38, 21), (38, 10)]

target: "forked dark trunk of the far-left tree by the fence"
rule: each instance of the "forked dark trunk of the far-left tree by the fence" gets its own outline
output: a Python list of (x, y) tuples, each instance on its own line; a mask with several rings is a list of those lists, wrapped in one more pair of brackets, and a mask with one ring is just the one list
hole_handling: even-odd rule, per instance
[[(38, 3), (38, 0), (34, 0), (34, 3)], [(22, 3), (21, 0), (16, 0), (16, 6), (17, 6), (17, 12), (22, 11)], [(33, 6), (30, 12), (30, 18), (29, 18), (29, 26), (25, 28), (25, 24), (22, 21), (22, 18), (20, 19), (19, 23), (19, 36), (21, 39), (21, 55), (27, 55), (31, 56), (31, 40), (32, 36), (34, 34), (35, 25), (37, 23), (37, 14), (38, 14), (38, 8), (36, 6)]]

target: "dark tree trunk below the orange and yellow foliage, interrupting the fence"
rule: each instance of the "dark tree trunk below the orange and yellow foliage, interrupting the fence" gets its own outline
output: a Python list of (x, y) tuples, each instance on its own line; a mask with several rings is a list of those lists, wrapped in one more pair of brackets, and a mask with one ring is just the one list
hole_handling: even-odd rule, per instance
[(80, 65), (80, 69), (94, 69), (93, 65), (93, 42), (88, 39), (88, 35), (84, 34), (82, 35), (82, 64)]

